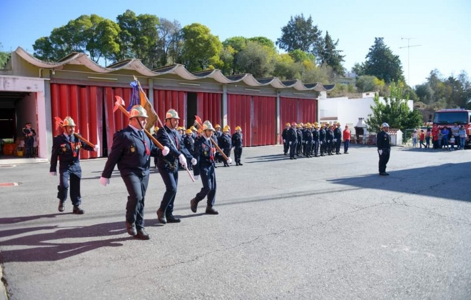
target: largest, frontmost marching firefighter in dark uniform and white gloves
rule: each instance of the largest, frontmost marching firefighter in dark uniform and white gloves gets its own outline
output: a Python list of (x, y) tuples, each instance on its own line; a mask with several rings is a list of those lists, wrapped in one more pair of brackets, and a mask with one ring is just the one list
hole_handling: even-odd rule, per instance
[[(113, 135), (113, 146), (100, 178), (101, 185), (108, 185), (113, 169), (118, 164), (129, 195), (126, 203), (126, 231), (138, 239), (151, 239), (144, 228), (144, 205), (151, 156), (161, 154), (161, 149), (153, 144), (143, 130), (146, 128), (147, 117), (142, 106), (135, 105), (131, 108), (128, 126)], [(168, 147), (164, 147), (162, 155), (168, 154), (168, 151)]]

